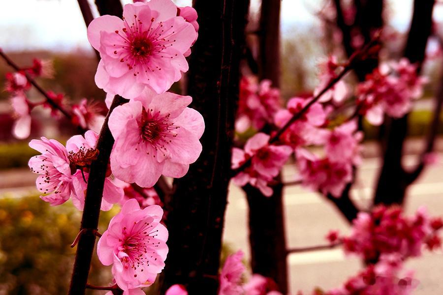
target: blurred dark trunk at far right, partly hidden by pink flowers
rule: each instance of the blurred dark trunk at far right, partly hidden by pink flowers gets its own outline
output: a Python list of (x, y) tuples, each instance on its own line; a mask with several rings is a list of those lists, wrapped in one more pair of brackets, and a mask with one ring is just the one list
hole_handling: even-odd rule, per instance
[[(404, 56), (411, 63), (418, 63), (417, 72), (425, 58), (425, 49), (432, 28), (432, 11), (435, 0), (415, 0), (411, 28)], [(408, 130), (408, 115), (403, 118), (390, 118), (386, 122), (385, 150), (383, 167), (377, 184), (374, 204), (403, 204), (408, 185), (413, 177), (402, 166), (403, 144)], [(421, 170), (420, 170), (421, 171)]]

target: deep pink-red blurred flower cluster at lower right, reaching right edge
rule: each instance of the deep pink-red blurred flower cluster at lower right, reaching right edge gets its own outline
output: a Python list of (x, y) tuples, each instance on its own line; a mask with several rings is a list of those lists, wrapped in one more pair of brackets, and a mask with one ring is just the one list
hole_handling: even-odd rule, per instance
[(406, 259), (420, 256), (423, 245), (430, 250), (439, 248), (442, 228), (442, 219), (429, 217), (424, 207), (408, 217), (400, 207), (379, 206), (370, 213), (358, 213), (350, 236), (338, 237), (335, 233), (328, 239), (343, 241), (346, 253), (360, 255), (366, 261), (392, 253)]

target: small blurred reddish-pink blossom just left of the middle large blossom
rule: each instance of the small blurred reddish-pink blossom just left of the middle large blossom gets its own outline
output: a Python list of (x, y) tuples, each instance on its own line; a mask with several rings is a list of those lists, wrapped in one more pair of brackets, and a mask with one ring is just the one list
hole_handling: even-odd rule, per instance
[(99, 112), (100, 108), (96, 103), (89, 103), (86, 98), (83, 98), (79, 104), (72, 106), (74, 115), (72, 122), (83, 129), (91, 129), (99, 133), (105, 119)]

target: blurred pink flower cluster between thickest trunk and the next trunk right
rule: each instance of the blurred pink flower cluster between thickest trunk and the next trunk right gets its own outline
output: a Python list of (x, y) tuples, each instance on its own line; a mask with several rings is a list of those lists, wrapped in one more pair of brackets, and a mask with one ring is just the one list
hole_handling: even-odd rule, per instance
[(271, 87), (271, 81), (257, 83), (253, 76), (240, 80), (237, 121), (235, 130), (243, 133), (249, 128), (260, 130), (272, 123), (275, 113), (281, 108), (280, 90)]

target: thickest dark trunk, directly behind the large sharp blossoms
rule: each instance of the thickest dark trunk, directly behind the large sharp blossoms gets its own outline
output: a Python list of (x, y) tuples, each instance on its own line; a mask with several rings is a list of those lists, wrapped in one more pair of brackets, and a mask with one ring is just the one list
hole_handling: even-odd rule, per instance
[(215, 295), (249, 0), (194, 0), (193, 6), (200, 29), (190, 56), (188, 94), (206, 128), (199, 159), (174, 180), (167, 204), (169, 254), (162, 288), (178, 283), (190, 295)]

